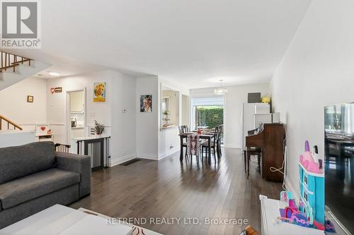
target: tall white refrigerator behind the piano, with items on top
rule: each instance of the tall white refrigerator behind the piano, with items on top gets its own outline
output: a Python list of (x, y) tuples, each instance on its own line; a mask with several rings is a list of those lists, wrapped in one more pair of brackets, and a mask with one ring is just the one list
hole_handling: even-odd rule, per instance
[(246, 147), (248, 132), (256, 129), (261, 123), (272, 123), (270, 105), (265, 103), (244, 103), (241, 114), (241, 148)]

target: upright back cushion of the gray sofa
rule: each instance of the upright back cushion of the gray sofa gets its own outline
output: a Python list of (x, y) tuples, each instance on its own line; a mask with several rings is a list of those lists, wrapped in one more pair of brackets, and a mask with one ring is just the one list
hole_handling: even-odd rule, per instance
[(0, 184), (55, 166), (52, 142), (0, 148)]

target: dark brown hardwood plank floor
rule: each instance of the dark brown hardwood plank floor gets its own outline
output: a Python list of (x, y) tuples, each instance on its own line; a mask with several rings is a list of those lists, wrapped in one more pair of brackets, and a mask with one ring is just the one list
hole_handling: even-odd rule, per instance
[[(140, 226), (162, 234), (239, 234), (245, 226), (205, 224), (205, 218), (248, 219), (261, 226), (259, 194), (278, 198), (281, 183), (264, 181), (251, 162), (249, 179), (241, 151), (223, 149), (212, 165), (179, 161), (179, 152), (160, 161), (142, 159), (92, 174), (91, 195), (70, 205), (111, 217), (147, 218)], [(181, 218), (179, 223), (150, 224), (150, 218)], [(200, 224), (185, 223), (198, 218)], [(156, 220), (154, 220), (156, 221)], [(171, 222), (171, 220), (170, 220)], [(197, 222), (195, 220), (195, 222)], [(234, 222), (234, 221), (232, 221)], [(139, 225), (139, 224), (137, 224)]]

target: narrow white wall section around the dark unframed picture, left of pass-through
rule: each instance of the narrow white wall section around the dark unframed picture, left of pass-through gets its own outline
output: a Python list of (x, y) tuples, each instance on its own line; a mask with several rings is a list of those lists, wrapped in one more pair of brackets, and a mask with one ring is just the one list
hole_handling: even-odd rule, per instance
[[(136, 86), (136, 143), (137, 157), (158, 159), (159, 95), (157, 76), (137, 78)], [(152, 112), (140, 112), (140, 95), (152, 95)]]

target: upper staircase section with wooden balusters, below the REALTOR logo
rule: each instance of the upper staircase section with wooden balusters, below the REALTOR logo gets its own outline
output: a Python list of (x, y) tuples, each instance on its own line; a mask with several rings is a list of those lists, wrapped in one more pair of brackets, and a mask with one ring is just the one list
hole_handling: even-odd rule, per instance
[(0, 51), (0, 53), (0, 90), (4, 90), (50, 67), (50, 64), (18, 56), (10, 52)]

